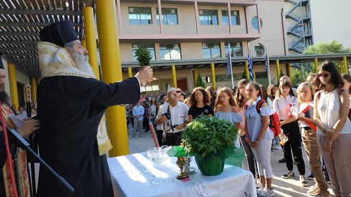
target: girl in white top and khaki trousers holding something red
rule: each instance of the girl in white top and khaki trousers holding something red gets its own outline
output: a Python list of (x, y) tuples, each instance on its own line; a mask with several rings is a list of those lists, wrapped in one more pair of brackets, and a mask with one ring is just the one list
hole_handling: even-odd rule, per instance
[(317, 182), (307, 194), (311, 196), (330, 196), (328, 192), (328, 184), (322, 172), (322, 165), (320, 162), (321, 150), (317, 142), (317, 127), (315, 127), (315, 120), (313, 120), (313, 99), (315, 96), (315, 89), (313, 84), (309, 82), (301, 83), (298, 87), (298, 101), (300, 103), (300, 111), (295, 120), (299, 120), (302, 143), (306, 150), (306, 155), (311, 166), (311, 171), (315, 176)]

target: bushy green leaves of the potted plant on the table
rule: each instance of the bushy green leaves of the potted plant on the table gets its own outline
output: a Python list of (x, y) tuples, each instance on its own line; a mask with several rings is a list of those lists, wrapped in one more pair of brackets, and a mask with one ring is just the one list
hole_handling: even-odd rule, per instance
[(196, 118), (182, 133), (185, 153), (216, 155), (219, 148), (226, 148), (237, 139), (238, 129), (231, 122), (217, 117)]

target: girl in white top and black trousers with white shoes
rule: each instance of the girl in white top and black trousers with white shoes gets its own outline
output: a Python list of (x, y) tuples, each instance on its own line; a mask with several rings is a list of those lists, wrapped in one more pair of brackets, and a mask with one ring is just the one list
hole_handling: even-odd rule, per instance
[[(290, 82), (282, 81), (280, 82), (276, 99), (273, 102), (273, 109), (280, 117), (280, 127), (284, 131), (284, 135), (287, 135), (289, 138), (289, 140), (282, 145), (289, 172), (282, 175), (282, 178), (289, 179), (295, 176), (293, 173), (294, 158), (300, 172), (300, 183), (303, 187), (307, 187), (308, 183), (304, 177), (305, 168), (304, 159), (302, 158), (300, 128), (298, 122), (294, 120), (290, 112), (290, 108), (293, 106), (297, 107), (299, 111), (299, 101), (293, 94)], [(293, 150), (293, 157), (291, 155), (291, 150)]]

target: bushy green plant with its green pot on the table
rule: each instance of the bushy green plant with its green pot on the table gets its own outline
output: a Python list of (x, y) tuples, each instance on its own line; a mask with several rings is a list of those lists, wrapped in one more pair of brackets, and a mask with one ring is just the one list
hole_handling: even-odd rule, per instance
[(235, 152), (234, 140), (238, 129), (217, 117), (196, 118), (182, 133), (185, 153), (195, 155), (202, 174), (215, 176), (223, 172), (224, 162)]

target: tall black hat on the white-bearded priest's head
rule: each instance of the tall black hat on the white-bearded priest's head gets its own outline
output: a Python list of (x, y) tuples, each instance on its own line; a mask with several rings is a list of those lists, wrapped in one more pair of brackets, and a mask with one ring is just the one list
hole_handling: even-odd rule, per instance
[(78, 36), (73, 29), (72, 21), (60, 21), (41, 29), (40, 40), (64, 47), (67, 42), (78, 40)]

